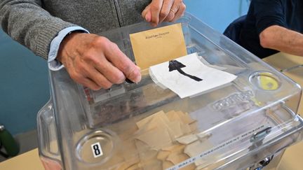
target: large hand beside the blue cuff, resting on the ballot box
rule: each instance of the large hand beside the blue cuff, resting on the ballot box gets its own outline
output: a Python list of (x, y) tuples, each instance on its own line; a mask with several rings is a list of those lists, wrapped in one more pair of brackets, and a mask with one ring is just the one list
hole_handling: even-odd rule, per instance
[(62, 41), (57, 59), (69, 76), (92, 90), (109, 88), (128, 78), (141, 80), (140, 68), (107, 38), (95, 34), (72, 33)]

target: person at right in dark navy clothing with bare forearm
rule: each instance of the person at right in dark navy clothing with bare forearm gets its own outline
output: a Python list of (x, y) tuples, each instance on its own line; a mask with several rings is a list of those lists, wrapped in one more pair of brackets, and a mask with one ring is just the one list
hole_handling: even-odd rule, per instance
[(257, 57), (287, 52), (303, 55), (303, 1), (253, 0), (238, 43)]

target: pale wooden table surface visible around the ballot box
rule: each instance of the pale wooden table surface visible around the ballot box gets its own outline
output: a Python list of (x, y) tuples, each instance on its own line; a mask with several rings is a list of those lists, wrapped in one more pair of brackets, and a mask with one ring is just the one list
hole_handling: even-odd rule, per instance
[[(271, 55), (265, 59), (264, 62), (267, 62), (274, 68), (280, 70), (289, 69), (293, 66), (303, 64), (303, 57), (298, 57), (294, 55), (288, 55), (282, 52), (279, 52), (276, 55)], [(301, 69), (299, 71), (299, 69)], [(290, 71), (283, 71), (285, 75), (295, 80), (303, 87), (303, 67), (292, 69)], [(303, 115), (303, 96), (301, 104), (299, 106), (299, 114)], [(303, 142), (297, 143), (294, 146), (290, 146), (285, 151), (285, 154), (282, 157), (281, 164), (278, 167), (278, 170), (301, 170), (303, 167)], [(31, 150), (17, 157), (13, 157), (10, 160), (5, 162), (0, 162), (1, 170), (14, 170), (14, 169), (31, 169), (31, 170), (42, 170), (43, 166), (39, 160), (38, 149)]]

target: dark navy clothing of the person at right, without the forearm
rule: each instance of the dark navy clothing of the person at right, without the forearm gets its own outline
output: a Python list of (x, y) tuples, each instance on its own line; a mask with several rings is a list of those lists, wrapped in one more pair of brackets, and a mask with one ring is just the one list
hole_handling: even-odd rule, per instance
[(273, 25), (303, 33), (303, 0), (251, 1), (238, 43), (260, 58), (275, 54), (278, 51), (262, 48), (259, 38)]

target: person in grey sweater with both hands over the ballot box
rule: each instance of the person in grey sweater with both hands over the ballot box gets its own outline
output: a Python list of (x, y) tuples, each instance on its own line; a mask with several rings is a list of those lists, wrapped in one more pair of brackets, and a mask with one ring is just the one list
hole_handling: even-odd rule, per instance
[[(149, 3), (150, 0), (4, 0), (0, 2), (0, 23), (15, 41), (48, 59), (51, 70), (61, 69), (63, 64), (77, 83), (98, 90), (126, 78), (140, 81), (140, 69), (117, 45), (97, 33), (142, 21), (142, 10)], [(152, 1), (149, 22), (159, 24), (163, 17), (158, 9), (169, 12), (172, 6), (176, 13), (170, 13), (171, 20), (177, 19), (184, 12), (180, 3)], [(154, 8), (158, 5), (164, 8)]]

